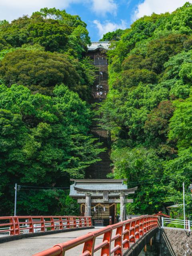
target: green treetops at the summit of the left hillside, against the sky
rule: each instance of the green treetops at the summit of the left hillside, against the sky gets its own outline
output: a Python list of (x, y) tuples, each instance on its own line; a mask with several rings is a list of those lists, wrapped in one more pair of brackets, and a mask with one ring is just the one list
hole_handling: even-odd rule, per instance
[(37, 43), (50, 52), (71, 49), (76, 56), (87, 49), (90, 37), (86, 23), (78, 15), (70, 15), (56, 8), (42, 8), (30, 17), (23, 16), (11, 23), (1, 21), (0, 50)]

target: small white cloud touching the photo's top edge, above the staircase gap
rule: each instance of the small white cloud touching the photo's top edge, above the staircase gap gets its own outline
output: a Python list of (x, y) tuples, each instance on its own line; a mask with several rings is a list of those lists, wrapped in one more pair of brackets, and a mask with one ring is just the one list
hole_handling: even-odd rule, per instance
[(92, 0), (92, 10), (102, 16), (107, 12), (116, 15), (117, 4), (114, 0)]

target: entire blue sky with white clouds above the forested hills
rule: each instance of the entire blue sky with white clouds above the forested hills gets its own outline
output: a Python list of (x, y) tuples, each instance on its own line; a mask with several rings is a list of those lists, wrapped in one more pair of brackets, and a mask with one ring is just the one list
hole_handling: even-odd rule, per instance
[[(118, 28), (128, 28), (130, 24), (152, 12), (172, 12), (186, 0), (0, 0), (0, 20), (14, 20), (23, 14), (31, 15), (40, 8), (65, 9), (70, 14), (78, 14), (87, 24), (92, 41)], [(188, 0), (192, 2), (192, 0)]]

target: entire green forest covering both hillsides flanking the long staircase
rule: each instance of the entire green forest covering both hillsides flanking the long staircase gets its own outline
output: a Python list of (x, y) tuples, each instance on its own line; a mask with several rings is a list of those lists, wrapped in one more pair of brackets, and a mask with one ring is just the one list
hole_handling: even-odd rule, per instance
[[(102, 40), (112, 40), (110, 91), (99, 110), (112, 136), (109, 177), (138, 186), (130, 214), (182, 204), (184, 181), (192, 215), (192, 4)], [(15, 182), (18, 214), (78, 212), (69, 179), (84, 178), (101, 151), (88, 135), (88, 44), (86, 24), (64, 10), (0, 21), (0, 215), (13, 214)]]

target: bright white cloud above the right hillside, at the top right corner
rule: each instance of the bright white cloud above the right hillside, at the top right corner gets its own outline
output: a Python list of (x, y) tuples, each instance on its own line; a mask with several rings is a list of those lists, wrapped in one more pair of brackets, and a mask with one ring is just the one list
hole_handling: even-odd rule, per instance
[[(152, 12), (161, 14), (164, 12), (173, 12), (176, 8), (183, 6), (187, 0), (144, 0), (144, 2), (138, 4), (133, 20), (141, 18), (144, 15), (151, 15)], [(192, 2), (192, 0), (188, 0)]]

